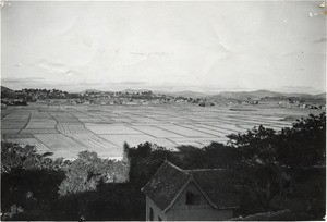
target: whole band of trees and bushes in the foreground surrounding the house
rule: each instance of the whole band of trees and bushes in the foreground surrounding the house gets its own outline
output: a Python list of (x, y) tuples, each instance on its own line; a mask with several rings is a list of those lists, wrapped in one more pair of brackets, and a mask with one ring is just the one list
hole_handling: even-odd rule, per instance
[(1, 219), (144, 220), (141, 188), (165, 160), (183, 169), (237, 172), (240, 212), (250, 215), (244, 220), (323, 219), (325, 113), (280, 132), (259, 126), (228, 137), (228, 145), (180, 147), (179, 153), (149, 143), (125, 145), (122, 161), (88, 151), (74, 161), (52, 160), (51, 153), (38, 155), (31, 146), (1, 144)]

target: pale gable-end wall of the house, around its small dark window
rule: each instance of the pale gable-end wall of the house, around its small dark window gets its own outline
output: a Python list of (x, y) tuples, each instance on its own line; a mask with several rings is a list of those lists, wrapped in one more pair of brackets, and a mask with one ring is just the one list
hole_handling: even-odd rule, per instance
[[(186, 193), (199, 195), (198, 205), (186, 205)], [(196, 185), (191, 182), (178, 197), (172, 207), (166, 212), (169, 221), (217, 221), (233, 218), (233, 210), (215, 209), (203, 196)]]

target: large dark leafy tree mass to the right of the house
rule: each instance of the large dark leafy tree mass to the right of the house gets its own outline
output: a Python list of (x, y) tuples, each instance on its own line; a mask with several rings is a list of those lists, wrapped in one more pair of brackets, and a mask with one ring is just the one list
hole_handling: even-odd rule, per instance
[[(301, 119), (281, 132), (259, 126), (228, 137), (242, 156), (239, 175), (243, 180), (243, 214), (292, 209), (322, 219), (326, 193), (325, 113)], [(308, 170), (312, 174), (305, 173)]]

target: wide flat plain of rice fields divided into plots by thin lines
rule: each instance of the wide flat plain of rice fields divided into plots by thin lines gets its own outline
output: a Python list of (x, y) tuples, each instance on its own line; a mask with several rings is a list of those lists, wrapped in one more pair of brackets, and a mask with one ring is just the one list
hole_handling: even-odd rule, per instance
[(31, 103), (1, 108), (1, 140), (33, 145), (53, 158), (75, 159), (84, 150), (102, 158), (122, 158), (123, 144), (155, 143), (171, 150), (227, 143), (232, 133), (263, 125), (292, 126), (289, 120), (318, 114), (319, 110), (284, 109), (277, 104), (197, 107), (82, 106)]

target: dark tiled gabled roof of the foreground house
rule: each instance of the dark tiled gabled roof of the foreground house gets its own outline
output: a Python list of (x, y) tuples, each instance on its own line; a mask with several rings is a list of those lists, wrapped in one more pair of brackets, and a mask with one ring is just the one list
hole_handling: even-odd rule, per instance
[(238, 178), (231, 171), (223, 169), (182, 170), (165, 161), (141, 190), (162, 211), (167, 211), (191, 181), (214, 208), (239, 207), (234, 190)]

